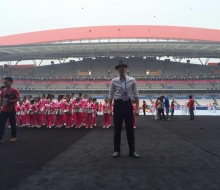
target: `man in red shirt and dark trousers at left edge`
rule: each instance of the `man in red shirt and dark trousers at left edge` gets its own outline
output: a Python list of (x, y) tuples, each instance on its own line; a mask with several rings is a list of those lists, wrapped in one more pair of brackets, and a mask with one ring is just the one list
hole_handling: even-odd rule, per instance
[(12, 87), (13, 79), (11, 77), (4, 78), (5, 88), (0, 96), (0, 142), (5, 133), (5, 124), (9, 118), (11, 124), (11, 142), (17, 140), (17, 127), (16, 127), (16, 102), (20, 100), (20, 94), (17, 88)]

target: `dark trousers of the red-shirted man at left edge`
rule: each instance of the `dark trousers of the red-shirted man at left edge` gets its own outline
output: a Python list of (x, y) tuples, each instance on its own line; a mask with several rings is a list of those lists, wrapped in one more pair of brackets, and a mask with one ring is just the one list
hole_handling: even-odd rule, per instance
[(0, 113), (0, 140), (2, 140), (2, 137), (5, 134), (5, 124), (8, 118), (11, 124), (11, 137), (16, 137), (17, 127), (16, 127), (15, 115), (16, 115), (15, 111), (10, 111), (10, 112), (2, 111)]

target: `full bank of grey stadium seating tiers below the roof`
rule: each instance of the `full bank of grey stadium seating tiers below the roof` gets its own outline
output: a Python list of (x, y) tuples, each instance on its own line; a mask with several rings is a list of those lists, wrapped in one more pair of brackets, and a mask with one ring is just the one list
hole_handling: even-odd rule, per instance
[[(82, 92), (106, 96), (111, 79), (118, 76), (115, 65), (119, 60), (128, 65), (127, 74), (135, 77), (141, 95), (216, 95), (220, 90), (218, 65), (211, 67), (143, 57), (84, 58), (38, 67), (1, 67), (0, 75), (2, 78), (12, 76), (15, 86), (23, 94)], [(209, 100), (203, 98), (198, 104), (200, 102), (208, 104)]]

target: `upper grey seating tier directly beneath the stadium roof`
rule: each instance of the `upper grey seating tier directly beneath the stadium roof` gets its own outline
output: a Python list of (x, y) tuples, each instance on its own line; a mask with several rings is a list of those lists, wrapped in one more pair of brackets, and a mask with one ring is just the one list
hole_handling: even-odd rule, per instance
[(85, 59), (82, 61), (71, 61), (63, 64), (52, 64), (32, 68), (19, 68), (10, 66), (8, 70), (0, 69), (1, 74), (26, 78), (56, 78), (56, 77), (115, 77), (118, 72), (115, 64), (118, 60), (124, 60), (128, 65), (128, 75), (142, 78), (155, 77), (205, 77), (220, 73), (220, 67), (210, 67), (207, 65), (195, 65), (187, 63), (177, 63), (171, 61), (148, 60), (143, 58), (102, 58)]

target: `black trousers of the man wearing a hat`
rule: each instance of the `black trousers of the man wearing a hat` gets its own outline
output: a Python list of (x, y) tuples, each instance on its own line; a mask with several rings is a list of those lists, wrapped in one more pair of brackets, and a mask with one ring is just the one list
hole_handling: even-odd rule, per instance
[(120, 152), (121, 130), (123, 120), (125, 122), (129, 152), (135, 151), (134, 145), (134, 128), (133, 128), (133, 108), (131, 101), (115, 100), (114, 101), (114, 151)]

